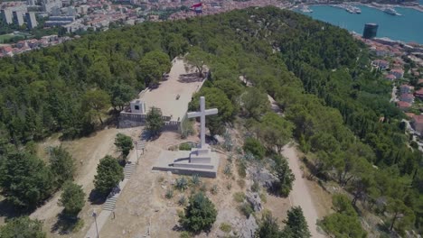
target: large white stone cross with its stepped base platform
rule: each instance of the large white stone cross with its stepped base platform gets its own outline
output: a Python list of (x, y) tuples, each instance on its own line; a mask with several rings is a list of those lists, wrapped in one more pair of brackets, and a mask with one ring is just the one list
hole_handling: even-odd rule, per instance
[(219, 158), (205, 142), (205, 116), (218, 114), (217, 108), (205, 109), (205, 98), (200, 97), (200, 111), (187, 113), (188, 118), (200, 117), (200, 144), (191, 151), (162, 151), (154, 170), (216, 178)]

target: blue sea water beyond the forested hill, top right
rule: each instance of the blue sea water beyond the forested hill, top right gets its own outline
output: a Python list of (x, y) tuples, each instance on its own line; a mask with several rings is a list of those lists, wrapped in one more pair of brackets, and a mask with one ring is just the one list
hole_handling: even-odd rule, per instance
[[(423, 5), (423, 0), (419, 0)], [(313, 13), (302, 13), (350, 32), (362, 34), (365, 23), (379, 24), (377, 37), (423, 44), (423, 13), (410, 8), (396, 7), (401, 15), (390, 15), (365, 5), (357, 5), (362, 14), (350, 14), (344, 9), (329, 5), (312, 5)]]

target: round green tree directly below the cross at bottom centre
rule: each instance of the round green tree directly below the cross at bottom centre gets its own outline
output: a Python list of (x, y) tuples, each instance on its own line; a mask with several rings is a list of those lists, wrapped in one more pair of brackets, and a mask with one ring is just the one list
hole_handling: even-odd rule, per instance
[(189, 205), (181, 215), (179, 223), (189, 231), (210, 231), (216, 221), (217, 210), (209, 198), (202, 193), (190, 197)]

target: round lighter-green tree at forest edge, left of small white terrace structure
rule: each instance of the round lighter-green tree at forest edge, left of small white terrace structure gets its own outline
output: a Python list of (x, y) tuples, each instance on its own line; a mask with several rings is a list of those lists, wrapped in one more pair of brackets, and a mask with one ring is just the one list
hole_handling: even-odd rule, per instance
[(97, 89), (89, 90), (82, 98), (82, 110), (89, 115), (95, 115), (99, 118), (100, 124), (103, 124), (101, 115), (108, 112), (110, 107), (110, 96), (106, 91)]

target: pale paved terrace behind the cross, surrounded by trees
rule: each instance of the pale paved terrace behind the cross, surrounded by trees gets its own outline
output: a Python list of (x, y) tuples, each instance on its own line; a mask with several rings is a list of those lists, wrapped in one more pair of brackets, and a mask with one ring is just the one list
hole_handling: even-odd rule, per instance
[[(152, 106), (162, 109), (164, 115), (171, 116), (172, 120), (181, 120), (188, 111), (188, 104), (193, 94), (200, 90), (204, 80), (182, 80), (181, 75), (193, 73), (191, 69), (185, 68), (183, 59), (174, 59), (174, 65), (169, 73), (169, 79), (162, 81), (155, 89), (148, 89), (140, 94), (139, 99), (146, 102), (146, 107)], [(177, 96), (179, 96), (178, 99)]]

